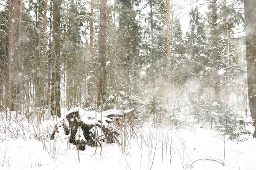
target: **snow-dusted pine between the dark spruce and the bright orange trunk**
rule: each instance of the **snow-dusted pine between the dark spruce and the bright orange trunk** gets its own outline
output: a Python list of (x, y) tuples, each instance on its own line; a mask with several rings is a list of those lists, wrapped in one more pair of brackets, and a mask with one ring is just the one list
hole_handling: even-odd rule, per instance
[(163, 62), (167, 62), (169, 59), (166, 55), (166, 2), (148, 0), (146, 6), (149, 6), (151, 10), (145, 16), (147, 26), (142, 37), (144, 53), (142, 54), (141, 63), (147, 67), (147, 74), (143, 78), (143, 83), (156, 88), (157, 85), (160, 86), (158, 80), (161, 78), (159, 74), (163, 71)]

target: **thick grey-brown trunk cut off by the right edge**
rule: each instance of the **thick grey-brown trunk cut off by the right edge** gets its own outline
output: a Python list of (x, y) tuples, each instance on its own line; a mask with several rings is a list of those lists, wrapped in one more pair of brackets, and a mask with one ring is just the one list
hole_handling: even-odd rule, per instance
[(245, 34), (246, 34), (246, 62), (247, 83), (250, 113), (253, 118), (256, 137), (256, 1), (244, 0)]

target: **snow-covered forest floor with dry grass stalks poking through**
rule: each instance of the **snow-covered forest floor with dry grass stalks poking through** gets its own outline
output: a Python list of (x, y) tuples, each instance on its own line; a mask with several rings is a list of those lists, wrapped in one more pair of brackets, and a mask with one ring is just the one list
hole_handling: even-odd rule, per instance
[[(122, 147), (103, 143), (78, 151), (63, 127), (58, 127), (55, 139), (49, 139), (56, 122), (45, 121), (37, 127), (18, 117), (17, 122), (6, 122), (1, 115), (0, 170), (256, 170), (252, 135), (231, 140), (215, 130), (172, 131), (145, 124)], [(253, 132), (253, 127), (248, 128)]]

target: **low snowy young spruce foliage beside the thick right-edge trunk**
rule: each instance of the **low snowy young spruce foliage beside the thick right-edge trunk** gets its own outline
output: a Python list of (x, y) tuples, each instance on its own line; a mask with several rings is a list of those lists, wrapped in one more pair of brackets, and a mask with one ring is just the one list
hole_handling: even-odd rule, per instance
[(195, 104), (192, 114), (200, 127), (216, 129), (224, 135), (229, 135), (230, 139), (248, 134), (245, 127), (251, 123), (238, 114), (236, 109), (223, 102), (214, 105)]

